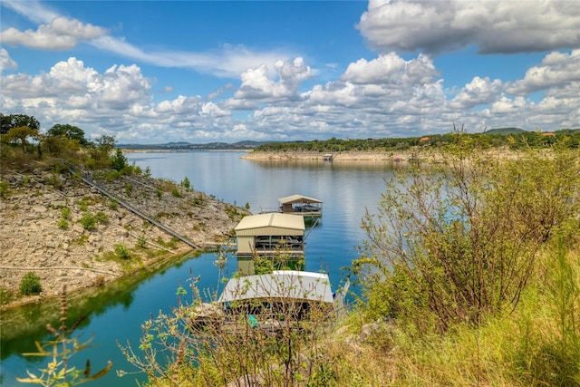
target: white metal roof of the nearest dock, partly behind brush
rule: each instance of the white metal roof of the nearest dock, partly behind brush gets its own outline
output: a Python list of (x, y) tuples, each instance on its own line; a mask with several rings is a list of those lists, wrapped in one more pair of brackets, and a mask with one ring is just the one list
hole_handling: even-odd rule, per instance
[(271, 274), (230, 279), (218, 302), (256, 298), (288, 298), (333, 303), (333, 291), (326, 274), (275, 270)]

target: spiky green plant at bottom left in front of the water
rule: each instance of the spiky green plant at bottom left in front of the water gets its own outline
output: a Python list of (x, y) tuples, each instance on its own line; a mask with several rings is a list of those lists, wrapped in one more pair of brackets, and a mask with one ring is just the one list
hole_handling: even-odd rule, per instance
[(23, 353), (24, 356), (48, 356), (51, 357), (51, 361), (46, 365), (46, 368), (39, 370), (41, 372), (40, 374), (26, 371), (28, 377), (17, 377), (16, 380), (18, 382), (41, 384), (45, 387), (72, 387), (83, 382), (95, 381), (111, 370), (111, 361), (101, 371), (95, 373), (91, 372), (91, 362), (88, 359), (83, 370), (79, 370), (71, 365), (70, 360), (73, 355), (89, 348), (91, 341), (82, 343), (77, 336), (73, 336), (76, 327), (82, 323), (84, 316), (73, 324), (73, 327), (69, 328), (66, 326), (66, 288), (63, 288), (61, 295), (60, 314), (62, 325), (58, 329), (53, 328), (51, 324), (46, 324), (46, 329), (54, 335), (54, 339), (43, 343), (35, 342), (37, 352)]

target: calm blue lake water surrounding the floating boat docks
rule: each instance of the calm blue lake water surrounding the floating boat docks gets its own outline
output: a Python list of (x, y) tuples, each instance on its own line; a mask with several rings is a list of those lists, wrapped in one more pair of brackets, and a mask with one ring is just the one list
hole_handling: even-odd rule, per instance
[[(364, 232), (361, 220), (366, 208), (371, 212), (378, 206), (385, 189), (384, 180), (392, 176), (393, 165), (388, 161), (323, 161), (323, 160), (242, 160), (245, 153), (229, 151), (195, 151), (179, 153), (130, 153), (127, 159), (142, 169), (150, 168), (154, 178), (180, 182), (186, 177), (191, 187), (240, 207), (249, 205), (250, 211), (276, 208), (277, 199), (301, 194), (324, 201), (322, 221), (306, 230), (306, 267), (308, 271), (324, 269), (330, 275), (333, 289), (343, 284), (344, 266), (357, 257), (356, 247)], [(88, 385), (135, 386), (135, 380), (145, 380), (135, 374), (122, 378), (115, 370), (136, 371), (122, 356), (117, 342), (129, 340), (136, 349), (141, 336), (140, 324), (150, 314), (169, 312), (177, 305), (179, 282), (186, 285), (191, 274), (201, 276), (199, 286), (215, 290), (218, 268), (214, 254), (185, 257), (177, 264), (162, 267), (155, 273), (141, 273), (119, 284), (106, 286), (102, 291), (73, 299), (74, 319), (87, 314), (77, 330), (81, 341), (93, 337), (95, 347), (78, 353), (73, 363), (83, 368), (86, 359), (93, 372), (108, 360), (113, 370), (107, 376)], [(227, 275), (236, 270), (236, 260), (227, 263)], [(187, 286), (184, 286), (187, 287)], [(15, 377), (25, 377), (26, 370), (37, 370), (48, 358), (22, 356), (34, 352), (34, 341), (49, 340), (44, 325), (58, 325), (58, 305), (28, 305), (17, 313), (3, 314), (2, 386), (25, 385)], [(74, 321), (70, 321), (69, 325)]]

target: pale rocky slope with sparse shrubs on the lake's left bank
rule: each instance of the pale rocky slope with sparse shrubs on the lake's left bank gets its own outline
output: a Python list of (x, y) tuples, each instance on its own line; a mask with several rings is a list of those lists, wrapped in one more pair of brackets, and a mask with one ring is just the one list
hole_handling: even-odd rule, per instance
[[(247, 213), (167, 180), (142, 175), (93, 177), (121, 202), (131, 203), (198, 247), (233, 237), (234, 227)], [(69, 293), (102, 286), (192, 249), (78, 177), (3, 171), (2, 184), (3, 309), (58, 295), (63, 285)], [(40, 277), (41, 295), (19, 295), (29, 271)]]

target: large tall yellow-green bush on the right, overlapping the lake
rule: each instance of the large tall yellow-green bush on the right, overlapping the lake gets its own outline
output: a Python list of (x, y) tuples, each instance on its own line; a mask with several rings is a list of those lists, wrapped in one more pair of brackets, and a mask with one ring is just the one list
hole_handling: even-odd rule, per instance
[[(414, 295), (425, 296), (422, 305), (442, 330), (514, 310), (538, 248), (580, 208), (574, 154), (494, 161), (480, 157), (469, 137), (457, 143), (444, 169), (413, 167), (391, 180), (378, 215), (363, 222), (369, 236), (363, 259), (387, 281), (368, 285), (370, 298), (381, 296), (372, 295), (376, 289), (410, 297), (387, 297), (391, 314), (401, 305), (416, 307)], [(425, 313), (416, 315), (419, 325)]]

